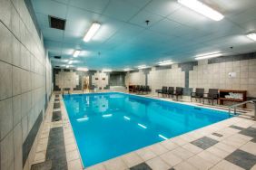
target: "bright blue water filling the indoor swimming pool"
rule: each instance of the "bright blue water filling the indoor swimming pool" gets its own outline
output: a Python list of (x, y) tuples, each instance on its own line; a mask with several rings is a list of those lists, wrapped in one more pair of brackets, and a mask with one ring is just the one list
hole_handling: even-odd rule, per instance
[(230, 118), (124, 93), (65, 95), (64, 104), (85, 167)]

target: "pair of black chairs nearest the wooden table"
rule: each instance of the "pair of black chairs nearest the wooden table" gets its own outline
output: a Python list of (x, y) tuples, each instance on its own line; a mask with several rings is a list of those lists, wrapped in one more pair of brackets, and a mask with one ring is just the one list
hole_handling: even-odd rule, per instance
[(210, 100), (212, 100), (212, 105), (213, 105), (214, 100), (216, 99), (218, 101), (218, 99), (219, 99), (219, 90), (218, 89), (209, 89), (209, 92), (205, 93), (204, 89), (196, 88), (195, 92), (191, 92), (191, 101), (193, 98), (199, 99), (200, 103), (201, 103), (201, 99), (202, 99), (203, 104), (204, 104), (205, 99), (208, 99), (208, 103), (210, 103)]

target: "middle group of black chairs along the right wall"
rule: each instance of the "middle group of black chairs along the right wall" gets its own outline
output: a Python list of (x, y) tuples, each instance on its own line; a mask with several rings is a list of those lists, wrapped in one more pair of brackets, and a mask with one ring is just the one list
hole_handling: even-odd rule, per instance
[(157, 92), (158, 96), (159, 94), (162, 94), (162, 97), (173, 97), (175, 96), (176, 99), (178, 99), (178, 97), (182, 97), (183, 94), (183, 88), (181, 87), (176, 87), (176, 90), (174, 90), (174, 87), (166, 87), (166, 86), (162, 86), (162, 90), (155, 90), (155, 92)]

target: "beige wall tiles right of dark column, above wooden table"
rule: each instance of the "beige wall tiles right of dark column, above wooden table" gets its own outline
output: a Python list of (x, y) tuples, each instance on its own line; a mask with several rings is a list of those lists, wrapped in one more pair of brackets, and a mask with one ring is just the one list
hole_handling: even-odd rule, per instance
[[(229, 77), (234, 72), (235, 77)], [(190, 71), (190, 88), (247, 90), (256, 97), (256, 59), (208, 63), (199, 61)]]

